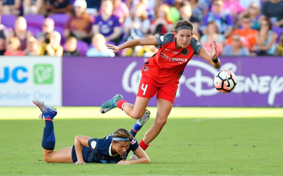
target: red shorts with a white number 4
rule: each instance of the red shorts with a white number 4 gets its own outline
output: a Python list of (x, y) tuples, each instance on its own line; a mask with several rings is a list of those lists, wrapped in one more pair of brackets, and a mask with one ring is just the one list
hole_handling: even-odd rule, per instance
[(151, 98), (162, 98), (164, 100), (174, 103), (178, 84), (159, 84), (155, 80), (142, 75), (139, 91), (136, 96)]

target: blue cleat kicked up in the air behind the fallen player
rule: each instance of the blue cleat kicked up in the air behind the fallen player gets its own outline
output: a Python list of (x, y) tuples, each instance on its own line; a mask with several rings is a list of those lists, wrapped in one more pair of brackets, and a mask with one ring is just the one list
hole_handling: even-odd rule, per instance
[(39, 107), (40, 111), (42, 112), (38, 118), (43, 119), (44, 116), (45, 120), (53, 120), (53, 118), (57, 115), (57, 109), (47, 106), (43, 101), (33, 100), (32, 102)]

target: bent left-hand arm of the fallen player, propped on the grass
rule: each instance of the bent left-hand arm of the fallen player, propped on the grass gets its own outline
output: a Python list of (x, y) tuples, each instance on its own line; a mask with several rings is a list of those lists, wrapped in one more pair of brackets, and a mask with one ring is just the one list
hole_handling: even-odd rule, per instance
[(75, 164), (85, 164), (83, 156), (82, 156), (82, 145), (88, 147), (88, 140), (91, 137), (88, 136), (76, 136), (75, 137), (75, 151), (78, 158), (78, 161)]

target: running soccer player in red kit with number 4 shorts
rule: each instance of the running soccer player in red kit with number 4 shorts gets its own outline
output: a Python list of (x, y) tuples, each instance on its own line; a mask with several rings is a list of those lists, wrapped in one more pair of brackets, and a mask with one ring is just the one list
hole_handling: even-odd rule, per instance
[[(220, 67), (220, 60), (216, 57), (217, 46), (213, 41), (209, 52), (193, 38), (193, 25), (189, 20), (179, 20), (175, 26), (175, 32), (166, 33), (164, 36), (152, 38), (133, 39), (119, 46), (106, 44), (114, 53), (121, 49), (139, 45), (155, 45), (158, 52), (149, 58), (142, 67), (142, 78), (136, 96), (135, 105), (128, 103), (122, 95), (117, 94), (101, 106), (100, 112), (105, 113), (115, 107), (119, 107), (127, 115), (138, 119), (132, 131), (137, 132), (141, 128), (139, 121), (145, 121), (144, 112), (151, 97), (157, 97), (157, 115), (153, 125), (147, 130), (139, 145), (146, 149), (149, 143), (160, 133), (167, 122), (172, 109), (179, 79), (190, 59), (198, 54), (214, 68)], [(142, 117), (142, 118), (141, 118)], [(130, 157), (131, 158), (131, 157)]]

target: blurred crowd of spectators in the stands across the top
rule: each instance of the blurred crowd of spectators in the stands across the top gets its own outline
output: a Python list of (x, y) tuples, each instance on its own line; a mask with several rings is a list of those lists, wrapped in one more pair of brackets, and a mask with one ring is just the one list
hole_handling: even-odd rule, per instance
[(164, 35), (180, 19), (206, 49), (216, 40), (218, 55), (283, 55), (282, 0), (0, 0), (0, 55), (114, 57), (105, 43)]

